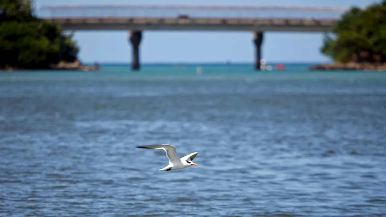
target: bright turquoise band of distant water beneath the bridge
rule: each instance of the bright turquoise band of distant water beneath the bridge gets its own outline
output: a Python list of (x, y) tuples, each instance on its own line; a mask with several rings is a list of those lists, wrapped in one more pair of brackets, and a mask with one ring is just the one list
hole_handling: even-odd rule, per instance
[[(269, 64), (274, 66), (275, 64)], [(284, 64), (286, 70), (255, 71), (252, 64), (146, 64), (132, 71), (126, 64), (102, 64), (97, 72), (19, 71), (2, 80), (356, 80), (386, 79), (381, 71), (309, 71), (310, 64)], [(197, 73), (197, 68), (201, 73)]]

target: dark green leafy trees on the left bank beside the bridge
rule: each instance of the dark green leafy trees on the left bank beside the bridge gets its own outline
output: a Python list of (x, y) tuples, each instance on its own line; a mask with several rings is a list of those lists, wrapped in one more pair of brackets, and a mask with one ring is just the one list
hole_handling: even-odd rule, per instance
[(59, 61), (74, 61), (79, 48), (61, 29), (32, 15), (28, 0), (0, 2), (0, 68), (49, 68)]

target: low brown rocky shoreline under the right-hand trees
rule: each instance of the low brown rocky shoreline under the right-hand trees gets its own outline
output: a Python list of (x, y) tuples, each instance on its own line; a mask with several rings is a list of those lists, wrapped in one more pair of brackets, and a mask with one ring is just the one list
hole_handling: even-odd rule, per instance
[(386, 71), (386, 63), (329, 63), (310, 66), (310, 70), (375, 70)]

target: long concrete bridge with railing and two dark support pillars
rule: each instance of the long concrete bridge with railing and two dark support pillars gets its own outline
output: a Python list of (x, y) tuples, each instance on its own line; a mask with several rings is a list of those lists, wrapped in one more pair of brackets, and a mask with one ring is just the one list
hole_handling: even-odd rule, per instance
[(51, 6), (39, 16), (63, 30), (129, 31), (132, 70), (139, 70), (142, 31), (250, 31), (260, 69), (264, 31), (329, 32), (349, 8), (221, 6)]

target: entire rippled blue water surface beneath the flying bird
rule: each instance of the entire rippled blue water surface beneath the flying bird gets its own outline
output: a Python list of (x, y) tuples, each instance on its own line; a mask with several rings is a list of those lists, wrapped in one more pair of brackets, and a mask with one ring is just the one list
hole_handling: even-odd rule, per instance
[(0, 216), (386, 216), (386, 73), (286, 66), (0, 73)]

